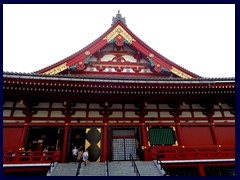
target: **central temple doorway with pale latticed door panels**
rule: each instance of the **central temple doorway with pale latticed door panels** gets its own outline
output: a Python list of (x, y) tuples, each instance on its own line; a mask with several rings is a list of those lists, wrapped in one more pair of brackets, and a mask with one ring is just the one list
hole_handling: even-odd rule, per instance
[(111, 159), (113, 161), (130, 160), (130, 154), (137, 159), (137, 141), (135, 129), (113, 129)]

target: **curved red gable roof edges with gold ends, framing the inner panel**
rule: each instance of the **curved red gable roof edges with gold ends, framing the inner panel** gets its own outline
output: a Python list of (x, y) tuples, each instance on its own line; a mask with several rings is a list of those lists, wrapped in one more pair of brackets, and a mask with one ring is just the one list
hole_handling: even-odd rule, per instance
[[(97, 56), (99, 55), (99, 52), (102, 52), (102, 50), (105, 47), (110, 46), (109, 44), (111, 43), (115, 43), (114, 45), (117, 47), (117, 52), (123, 52), (121, 48), (124, 49), (124, 47), (134, 50), (135, 54), (139, 54), (139, 57), (143, 58), (148, 63), (147, 66), (149, 66), (150, 71), (152, 71), (153, 75), (155, 76), (159, 76), (160, 73), (167, 73), (168, 77), (200, 78), (200, 76), (165, 58), (157, 51), (153, 50), (150, 46), (145, 44), (142, 40), (140, 40), (138, 36), (136, 36), (132, 31), (130, 31), (130, 29), (127, 28), (126, 20), (122, 17), (120, 11), (118, 11), (116, 17), (113, 17), (112, 26), (98, 39), (80, 51), (76, 52), (75, 54), (35, 73), (49, 75), (56, 75), (61, 73), (64, 74), (66, 71), (69, 73), (69, 70), (72, 70), (73, 67), (80, 70), (78, 72), (79, 74), (85, 73), (84, 71), (86, 68), (90, 67), (90, 59), (92, 57), (98, 58)], [(116, 51), (114, 51), (114, 53), (115, 52)], [(134, 54), (132, 56), (134, 56)], [(134, 56), (134, 58), (136, 57)], [(139, 63), (139, 60), (137, 60), (136, 63)], [(111, 66), (113, 66), (113, 64), (111, 64)], [(122, 70), (124, 67), (126, 67), (126, 64), (118, 64), (118, 70)], [(99, 72), (99, 74), (101, 75), (101, 72)], [(134, 75), (140, 75), (140, 73), (136, 73)]]

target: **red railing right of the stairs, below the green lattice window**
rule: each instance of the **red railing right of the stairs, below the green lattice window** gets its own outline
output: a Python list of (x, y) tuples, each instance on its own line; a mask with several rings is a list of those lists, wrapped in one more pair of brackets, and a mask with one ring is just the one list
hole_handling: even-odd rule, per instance
[(152, 150), (153, 159), (191, 160), (191, 159), (233, 159), (235, 148), (182, 148), (156, 146)]

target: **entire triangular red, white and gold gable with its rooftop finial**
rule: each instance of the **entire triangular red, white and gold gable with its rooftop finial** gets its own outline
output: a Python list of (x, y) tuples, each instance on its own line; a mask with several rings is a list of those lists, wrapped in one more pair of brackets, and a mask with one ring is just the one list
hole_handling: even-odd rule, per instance
[(38, 71), (40, 74), (59, 73), (125, 73), (129, 75), (155, 75), (162, 77), (197, 78), (186, 69), (164, 58), (144, 44), (127, 27), (118, 12), (112, 27), (89, 46), (52, 66)]

